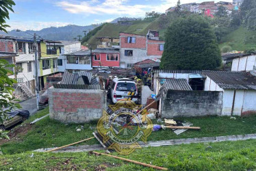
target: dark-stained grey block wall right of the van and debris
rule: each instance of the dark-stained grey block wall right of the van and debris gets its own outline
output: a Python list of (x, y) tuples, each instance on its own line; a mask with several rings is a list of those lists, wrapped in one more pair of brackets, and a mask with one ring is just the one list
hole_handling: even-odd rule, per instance
[(161, 105), (162, 118), (220, 116), (222, 92), (168, 90)]

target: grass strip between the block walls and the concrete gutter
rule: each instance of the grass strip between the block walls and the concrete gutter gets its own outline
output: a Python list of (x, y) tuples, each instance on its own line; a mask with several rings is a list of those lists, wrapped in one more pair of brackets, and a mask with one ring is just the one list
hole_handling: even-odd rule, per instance
[[(23, 153), (27, 150), (36, 150), (38, 148), (50, 148), (55, 146), (63, 146), (71, 144), (79, 140), (84, 140), (92, 137), (92, 132), (96, 131), (97, 122), (90, 124), (62, 124), (55, 120), (50, 120), (49, 117), (36, 122), (30, 126), (29, 122), (35, 118), (40, 118), (45, 114), (49, 114), (49, 109), (39, 111), (38, 114), (32, 116), (23, 123), (20, 133), (11, 132), (15, 136), (9, 141), (0, 146), (4, 154)], [(220, 135), (240, 135), (248, 133), (256, 133), (256, 116), (249, 118), (237, 118), (231, 120), (229, 117), (200, 117), (200, 118), (180, 118), (192, 122), (195, 127), (201, 127), (200, 131), (185, 131), (181, 135), (176, 135), (172, 130), (166, 129), (162, 131), (153, 132), (149, 137), (149, 141), (170, 140), (177, 138), (188, 137), (212, 137)], [(77, 132), (77, 128), (84, 126), (81, 132)], [(23, 127), (29, 127), (27, 133), (23, 133)], [(14, 129), (14, 130), (16, 130)], [(16, 134), (15, 134), (16, 133)], [(84, 144), (98, 144), (97, 140), (90, 140)], [(79, 144), (81, 145), (81, 144)]]

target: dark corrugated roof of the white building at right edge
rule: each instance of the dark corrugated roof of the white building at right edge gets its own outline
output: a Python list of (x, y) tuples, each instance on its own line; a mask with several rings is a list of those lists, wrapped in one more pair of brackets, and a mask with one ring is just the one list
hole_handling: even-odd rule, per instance
[(256, 90), (256, 77), (250, 73), (204, 70), (203, 74), (223, 89)]

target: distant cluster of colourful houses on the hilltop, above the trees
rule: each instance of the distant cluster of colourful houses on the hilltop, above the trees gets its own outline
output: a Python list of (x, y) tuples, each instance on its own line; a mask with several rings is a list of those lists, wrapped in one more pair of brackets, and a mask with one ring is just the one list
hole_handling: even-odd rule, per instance
[[(239, 10), (240, 5), (243, 3), (244, 0), (233, 0), (233, 2), (225, 2), (220, 1), (215, 3), (214, 1), (205, 1), (202, 3), (185, 3), (181, 5), (181, 10), (189, 11), (196, 14), (205, 14), (205, 16), (214, 17), (216, 12), (218, 12), (218, 8), (223, 6), (226, 8), (228, 14), (231, 14), (233, 10)], [(166, 10), (166, 14), (168, 12), (175, 11), (176, 7), (171, 7)]]

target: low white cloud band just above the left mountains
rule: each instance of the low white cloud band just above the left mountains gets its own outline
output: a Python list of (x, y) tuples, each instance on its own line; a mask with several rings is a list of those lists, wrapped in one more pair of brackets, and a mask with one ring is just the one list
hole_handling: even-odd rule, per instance
[(10, 25), (8, 27), (8, 31), (12, 29), (21, 29), (22, 31), (26, 31), (28, 29), (32, 29), (38, 31), (40, 29), (44, 29), (47, 27), (62, 27), (69, 25), (70, 23), (60, 23), (60, 22), (39, 22), (39, 21), (10, 21), (7, 23)]

